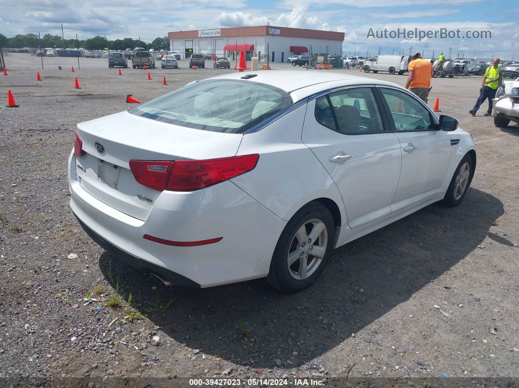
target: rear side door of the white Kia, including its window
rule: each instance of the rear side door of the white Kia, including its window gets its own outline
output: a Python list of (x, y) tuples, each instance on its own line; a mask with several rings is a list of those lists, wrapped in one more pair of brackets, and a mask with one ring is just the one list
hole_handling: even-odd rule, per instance
[(400, 175), (400, 142), (371, 87), (345, 88), (308, 103), (303, 142), (335, 181), (356, 228), (391, 213)]

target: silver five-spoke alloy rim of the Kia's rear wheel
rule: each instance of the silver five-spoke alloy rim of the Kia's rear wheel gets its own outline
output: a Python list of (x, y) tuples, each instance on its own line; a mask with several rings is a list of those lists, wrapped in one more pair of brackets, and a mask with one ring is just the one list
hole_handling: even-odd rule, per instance
[(304, 280), (317, 270), (328, 245), (328, 232), (324, 222), (318, 219), (306, 221), (292, 238), (286, 263), (290, 275)]

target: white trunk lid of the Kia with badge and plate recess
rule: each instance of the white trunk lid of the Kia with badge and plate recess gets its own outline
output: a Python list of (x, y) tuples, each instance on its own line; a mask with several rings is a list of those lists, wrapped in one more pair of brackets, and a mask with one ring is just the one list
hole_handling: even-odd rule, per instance
[(135, 181), (130, 160), (235, 156), (243, 136), (162, 123), (127, 111), (79, 123), (77, 132), (85, 151), (76, 158), (81, 187), (106, 205), (140, 220), (146, 220), (160, 192)]

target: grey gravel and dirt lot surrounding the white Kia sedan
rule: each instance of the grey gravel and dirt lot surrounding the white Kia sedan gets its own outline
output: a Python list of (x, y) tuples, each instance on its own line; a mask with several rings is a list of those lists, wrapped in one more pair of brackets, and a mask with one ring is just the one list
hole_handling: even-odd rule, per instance
[[(152, 70), (150, 81), (131, 68), (118, 76), (106, 59), (81, 59), (80, 69), (77, 59), (44, 58), (42, 70), (28, 54), (9, 54), (6, 62), (9, 75), (0, 75), (4, 381), (108, 376), (100, 386), (119, 384), (113, 377), (187, 386), (181, 378), (310, 376), (332, 384), (348, 376), (431, 378), (438, 385), (445, 377), (519, 377), (519, 127), (496, 128), (482, 116), (485, 107), (469, 115), (481, 77), (433, 79), (430, 95), (430, 104), (440, 97), (442, 112), (457, 117), (478, 147), (464, 202), (429, 206), (336, 249), (315, 285), (285, 295), (263, 280), (166, 289), (95, 245), (69, 207), (66, 161), (78, 122), (128, 109), (127, 94), (146, 101), (229, 70), (194, 71), (181, 61), (178, 70)], [(399, 84), (406, 78), (334, 71)], [(74, 77), (81, 89), (73, 89)], [(5, 107), (8, 89), (19, 108)], [(108, 306), (108, 298), (119, 307)]]

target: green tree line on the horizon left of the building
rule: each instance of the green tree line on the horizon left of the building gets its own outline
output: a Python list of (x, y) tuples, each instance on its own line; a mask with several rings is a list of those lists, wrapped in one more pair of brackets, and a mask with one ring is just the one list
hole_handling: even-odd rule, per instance
[(45, 34), (41, 39), (35, 34), (16, 35), (8, 38), (0, 34), (0, 47), (4, 48), (76, 48), (81, 47), (87, 50), (103, 50), (108, 48), (110, 50), (126, 50), (128, 48), (143, 47), (145, 49), (168, 50), (169, 39), (165, 37), (157, 37), (152, 42), (144, 42), (139, 39), (124, 38), (107, 40), (104, 36), (94, 36), (86, 40), (76, 39), (62, 39), (59, 35)]

